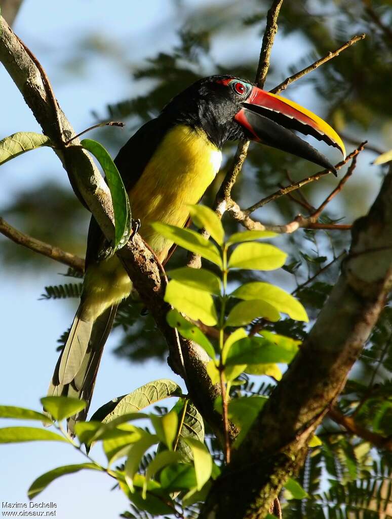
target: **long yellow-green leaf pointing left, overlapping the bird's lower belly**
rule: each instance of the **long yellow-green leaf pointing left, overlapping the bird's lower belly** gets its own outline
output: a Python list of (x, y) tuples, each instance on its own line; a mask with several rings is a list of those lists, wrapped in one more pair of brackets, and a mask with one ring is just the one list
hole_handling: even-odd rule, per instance
[(150, 226), (156, 230), (157, 233), (162, 234), (165, 238), (177, 243), (180, 247), (194, 252), (195, 254), (200, 254), (201, 257), (210, 260), (212, 263), (215, 263), (215, 265), (222, 268), (222, 259), (219, 250), (217, 250), (213, 243), (206, 240), (206, 238), (203, 238), (198, 233), (195, 233), (194, 230), (183, 229), (162, 222), (153, 222)]

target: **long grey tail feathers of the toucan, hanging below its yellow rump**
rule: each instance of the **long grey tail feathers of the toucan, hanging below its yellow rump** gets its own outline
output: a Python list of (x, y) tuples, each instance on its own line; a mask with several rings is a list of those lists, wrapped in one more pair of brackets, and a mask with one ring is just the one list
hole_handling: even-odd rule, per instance
[[(78, 333), (74, 330), (75, 323), (76, 328), (80, 326), (80, 322), (85, 323), (85, 321), (81, 321), (80, 318), (78, 318), (78, 313), (80, 314), (79, 307), (74, 323), (71, 327), (71, 332), (74, 330), (74, 334), (72, 335), (71, 339), (71, 345), (69, 348), (67, 348), (67, 341), (65, 349), (57, 361), (48, 394), (54, 396), (64, 395), (68, 397), (79, 398), (87, 402), (86, 407), (82, 411), (68, 419), (68, 430), (71, 433), (74, 433), (76, 422), (85, 420), (89, 411), (100, 359), (113, 324), (117, 307), (118, 305), (109, 307), (107, 310), (101, 313), (101, 315), (94, 322), (91, 323), (89, 336), (87, 337), (86, 335), (83, 335), (86, 344), (81, 344), (79, 342)], [(82, 327), (83, 326), (84, 325), (82, 324)], [(76, 347), (75, 355), (74, 351), (72, 351), (74, 345)], [(83, 352), (82, 357), (80, 357), (81, 352)], [(66, 354), (67, 359), (63, 361), (64, 354)], [(68, 359), (74, 360), (68, 364)], [(69, 365), (72, 366), (72, 370), (74, 370), (75, 366), (77, 365), (75, 362), (76, 360), (79, 362), (76, 373), (70, 380), (69, 378), (64, 378), (64, 374), (63, 378), (61, 379), (59, 376), (61, 372), (61, 366)], [(70, 372), (71, 370), (69, 373)], [(64, 380), (66, 380), (65, 383)]]

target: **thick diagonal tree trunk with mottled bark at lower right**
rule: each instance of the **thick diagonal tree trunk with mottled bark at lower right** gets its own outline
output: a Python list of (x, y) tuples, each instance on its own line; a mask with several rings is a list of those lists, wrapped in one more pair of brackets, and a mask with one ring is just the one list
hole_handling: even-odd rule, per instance
[(268, 512), (342, 390), (392, 283), (392, 170), (369, 214), (354, 224), (341, 275), (308, 339), (273, 391), (200, 519), (254, 519)]

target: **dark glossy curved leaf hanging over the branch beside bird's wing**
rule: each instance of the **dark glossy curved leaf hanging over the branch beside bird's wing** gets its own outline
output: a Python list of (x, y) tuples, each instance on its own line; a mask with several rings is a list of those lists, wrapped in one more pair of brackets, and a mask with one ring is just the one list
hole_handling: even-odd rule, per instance
[(114, 250), (121, 249), (132, 231), (129, 200), (119, 170), (104, 146), (92, 139), (83, 139), (80, 144), (98, 160), (105, 172), (114, 212)]

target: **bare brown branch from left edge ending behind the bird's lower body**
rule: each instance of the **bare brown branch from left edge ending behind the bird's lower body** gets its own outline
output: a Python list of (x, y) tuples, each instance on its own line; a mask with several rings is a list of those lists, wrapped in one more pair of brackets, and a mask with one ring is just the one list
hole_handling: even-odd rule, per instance
[(27, 249), (30, 249), (34, 252), (38, 252), (38, 254), (47, 256), (52, 260), (63, 263), (64, 265), (68, 265), (69, 267), (74, 268), (78, 272), (84, 272), (83, 258), (76, 256), (75, 254), (70, 254), (69, 252), (63, 251), (59, 247), (54, 247), (54, 245), (50, 245), (49, 243), (45, 243), (43, 241), (37, 240), (36, 238), (32, 238), (27, 234), (21, 233), (18, 229), (12, 227), (9, 223), (7, 223), (1, 216), (0, 233), (2, 233), (4, 236), (14, 241), (15, 243), (23, 245), (23, 247), (26, 247)]

